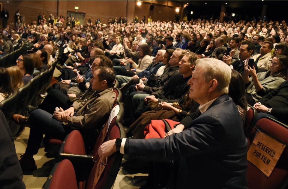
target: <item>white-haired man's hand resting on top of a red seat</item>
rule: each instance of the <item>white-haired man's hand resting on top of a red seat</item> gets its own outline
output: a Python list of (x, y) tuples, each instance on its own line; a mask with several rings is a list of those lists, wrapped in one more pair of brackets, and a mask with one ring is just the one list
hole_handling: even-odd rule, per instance
[(114, 154), (116, 150), (115, 145), (116, 139), (114, 140), (108, 140), (107, 142), (103, 143), (99, 149), (98, 149), (98, 155), (99, 158), (103, 161), (104, 164), (106, 164), (106, 158), (110, 155)]

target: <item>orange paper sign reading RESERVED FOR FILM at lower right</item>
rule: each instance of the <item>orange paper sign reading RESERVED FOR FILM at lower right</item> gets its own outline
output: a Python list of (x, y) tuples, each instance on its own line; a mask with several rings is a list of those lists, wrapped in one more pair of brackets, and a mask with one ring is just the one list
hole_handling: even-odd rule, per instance
[(282, 143), (261, 131), (256, 131), (256, 136), (247, 152), (247, 160), (269, 177), (284, 149), (285, 145)]

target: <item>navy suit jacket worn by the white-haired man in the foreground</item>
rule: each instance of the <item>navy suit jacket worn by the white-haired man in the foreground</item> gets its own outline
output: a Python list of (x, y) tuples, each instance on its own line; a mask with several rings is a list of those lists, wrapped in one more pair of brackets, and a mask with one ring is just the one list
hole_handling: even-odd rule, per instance
[[(127, 139), (124, 153), (152, 161), (178, 160), (167, 188), (247, 188), (247, 141), (238, 109), (217, 98), (190, 127), (164, 139)], [(176, 167), (175, 167), (176, 168)]]

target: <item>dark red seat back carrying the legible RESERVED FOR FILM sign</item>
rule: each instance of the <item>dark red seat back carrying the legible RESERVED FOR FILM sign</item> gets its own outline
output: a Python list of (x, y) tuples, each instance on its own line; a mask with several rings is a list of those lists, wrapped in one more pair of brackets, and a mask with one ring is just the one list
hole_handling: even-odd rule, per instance
[[(288, 126), (278, 122), (269, 117), (263, 117), (256, 122), (250, 136), (248, 137), (248, 145), (253, 141), (257, 130), (261, 130), (266, 134), (273, 137), (275, 140), (282, 143), (288, 143)], [(255, 189), (269, 189), (269, 188), (286, 188), (283, 185), (287, 184), (288, 178), (288, 149), (284, 149), (280, 156), (273, 172), (269, 177), (262, 173), (257, 167), (255, 167), (250, 161), (248, 161), (247, 181), (248, 188)], [(260, 161), (260, 160), (259, 160)], [(286, 183), (286, 184), (285, 184)]]

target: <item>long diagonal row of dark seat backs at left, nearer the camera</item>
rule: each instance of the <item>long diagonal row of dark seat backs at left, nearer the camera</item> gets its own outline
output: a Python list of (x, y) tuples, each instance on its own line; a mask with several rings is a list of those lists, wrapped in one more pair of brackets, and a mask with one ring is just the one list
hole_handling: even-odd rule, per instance
[[(20, 49), (19, 49), (20, 50)], [(14, 51), (16, 52), (16, 51)], [(4, 113), (10, 129), (15, 136), (19, 130), (19, 125), (12, 121), (13, 114), (23, 114), (28, 105), (37, 106), (40, 100), (40, 94), (49, 86), (53, 72), (56, 67), (57, 57), (51, 64), (49, 70), (42, 72), (40, 75), (31, 79), (19, 91), (14, 92), (9, 98), (0, 102), (0, 110)]]

